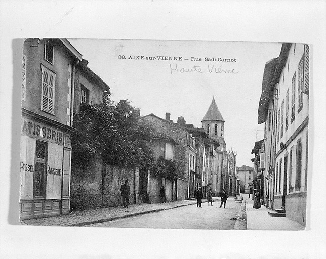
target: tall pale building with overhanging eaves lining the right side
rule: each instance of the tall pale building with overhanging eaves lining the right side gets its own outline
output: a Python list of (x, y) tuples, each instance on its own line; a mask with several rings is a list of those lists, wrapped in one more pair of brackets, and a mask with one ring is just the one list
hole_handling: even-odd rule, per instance
[(279, 57), (265, 65), (258, 110), (258, 123), (265, 123), (268, 206), (282, 208), (286, 217), (302, 225), (308, 181), (309, 60), (308, 45), (283, 44)]

